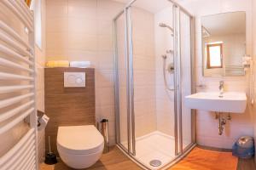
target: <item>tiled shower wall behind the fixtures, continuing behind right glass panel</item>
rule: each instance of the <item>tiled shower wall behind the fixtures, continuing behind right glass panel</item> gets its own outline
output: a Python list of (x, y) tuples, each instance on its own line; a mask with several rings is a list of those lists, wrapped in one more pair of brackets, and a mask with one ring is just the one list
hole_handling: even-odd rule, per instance
[[(191, 65), (190, 65), (190, 29), (189, 16), (181, 12), (181, 88), (182, 99), (191, 94)], [(155, 75), (156, 75), (156, 116), (157, 130), (174, 136), (174, 91), (166, 90), (163, 76), (162, 55), (166, 50), (173, 50), (172, 31), (159, 26), (160, 23), (172, 26), (172, 6), (166, 7), (154, 16), (155, 38)], [(166, 68), (173, 65), (173, 54), (167, 54)], [(166, 71), (166, 82), (174, 88), (173, 73)], [(182, 103), (183, 104), (183, 103)], [(183, 109), (183, 146), (191, 142), (191, 112), (184, 105)]]

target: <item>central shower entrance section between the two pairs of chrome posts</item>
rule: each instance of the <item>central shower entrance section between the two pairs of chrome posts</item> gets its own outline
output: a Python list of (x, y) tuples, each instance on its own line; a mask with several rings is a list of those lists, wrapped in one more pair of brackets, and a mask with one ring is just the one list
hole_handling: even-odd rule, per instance
[(131, 114), (135, 157), (153, 168), (163, 167), (175, 157), (175, 71), (169, 68), (174, 65), (173, 20), (172, 3), (160, 0), (161, 6), (154, 10), (142, 8), (146, 3), (137, 0), (128, 8), (133, 73)]

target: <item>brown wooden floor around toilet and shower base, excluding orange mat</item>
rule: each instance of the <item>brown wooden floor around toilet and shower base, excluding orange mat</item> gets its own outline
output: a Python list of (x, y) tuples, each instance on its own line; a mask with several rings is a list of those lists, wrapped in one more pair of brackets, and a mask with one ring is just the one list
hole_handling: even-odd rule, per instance
[[(202, 147), (202, 146), (201, 146)], [(204, 147), (205, 148), (205, 147)], [(210, 150), (214, 150), (208, 148)], [(41, 170), (72, 170), (63, 162), (58, 162), (55, 166), (45, 164), (40, 165)], [(93, 167), (86, 170), (141, 170), (133, 161), (125, 156), (117, 147), (113, 147), (109, 153), (103, 154), (100, 161), (97, 161)], [(171, 169), (171, 168), (170, 168)], [(256, 170), (253, 159), (239, 160), (237, 170)]]

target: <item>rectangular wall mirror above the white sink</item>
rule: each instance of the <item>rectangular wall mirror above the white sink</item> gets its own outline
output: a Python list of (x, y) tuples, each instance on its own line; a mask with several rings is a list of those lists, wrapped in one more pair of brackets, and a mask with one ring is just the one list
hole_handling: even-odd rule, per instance
[(203, 76), (245, 75), (246, 13), (233, 12), (201, 17)]

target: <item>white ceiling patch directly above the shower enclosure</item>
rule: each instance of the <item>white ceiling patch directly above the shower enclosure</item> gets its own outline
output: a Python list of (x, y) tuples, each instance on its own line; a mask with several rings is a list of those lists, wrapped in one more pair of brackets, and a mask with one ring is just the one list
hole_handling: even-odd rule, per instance
[[(131, 0), (113, 1), (125, 4), (131, 2)], [(148, 12), (155, 14), (163, 8), (171, 7), (172, 3), (170, 3), (168, 0), (137, 0), (135, 3), (132, 4), (132, 6), (136, 6), (137, 8), (143, 8), (144, 10), (147, 10)]]

